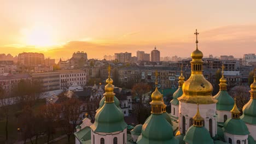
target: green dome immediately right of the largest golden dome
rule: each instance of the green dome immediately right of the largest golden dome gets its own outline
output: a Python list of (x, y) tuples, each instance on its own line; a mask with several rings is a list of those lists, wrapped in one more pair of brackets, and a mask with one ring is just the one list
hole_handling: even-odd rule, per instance
[(230, 111), (234, 107), (235, 101), (226, 91), (219, 91), (213, 98), (218, 100), (217, 110)]

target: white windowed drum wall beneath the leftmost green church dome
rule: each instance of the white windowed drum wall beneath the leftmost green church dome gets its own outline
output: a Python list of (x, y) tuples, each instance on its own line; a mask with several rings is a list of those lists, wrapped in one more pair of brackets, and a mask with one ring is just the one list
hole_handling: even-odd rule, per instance
[(91, 144), (101, 143), (101, 138), (104, 139), (104, 143), (106, 144), (113, 143), (114, 137), (117, 137), (118, 144), (126, 144), (127, 129), (125, 128), (123, 131), (117, 131), (114, 133), (94, 133), (94, 131), (91, 130)]

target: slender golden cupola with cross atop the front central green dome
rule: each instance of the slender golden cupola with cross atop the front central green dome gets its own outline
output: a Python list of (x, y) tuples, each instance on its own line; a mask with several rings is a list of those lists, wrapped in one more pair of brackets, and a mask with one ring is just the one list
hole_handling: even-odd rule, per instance
[(160, 114), (162, 113), (162, 94), (158, 91), (158, 71), (155, 71), (155, 91), (151, 95), (152, 101), (151, 113)]

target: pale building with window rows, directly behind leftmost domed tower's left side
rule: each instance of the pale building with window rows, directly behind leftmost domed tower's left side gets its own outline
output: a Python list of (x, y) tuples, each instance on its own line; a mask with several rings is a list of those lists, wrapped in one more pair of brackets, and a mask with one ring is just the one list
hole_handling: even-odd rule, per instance
[(67, 89), (76, 83), (78, 86), (85, 86), (86, 84), (86, 73), (84, 70), (74, 69), (74, 70), (58, 70), (60, 73), (60, 88)]

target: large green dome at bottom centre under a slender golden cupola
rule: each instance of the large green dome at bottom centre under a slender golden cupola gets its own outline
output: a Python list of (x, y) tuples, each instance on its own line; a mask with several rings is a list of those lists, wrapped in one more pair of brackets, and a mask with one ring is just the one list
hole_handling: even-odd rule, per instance
[(142, 133), (138, 137), (138, 144), (170, 144), (177, 143), (173, 137), (172, 125), (166, 121), (163, 115), (152, 114), (142, 126)]

